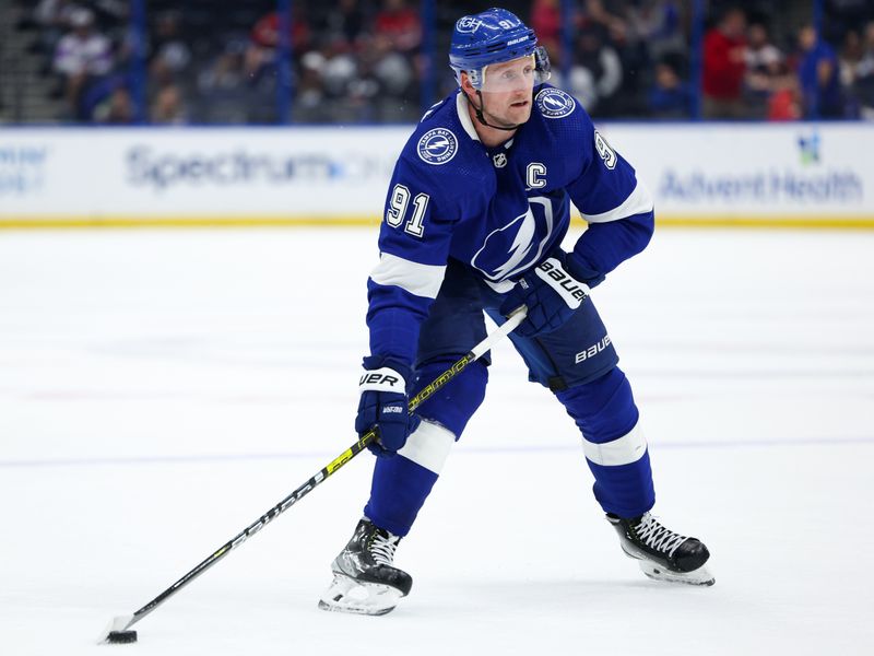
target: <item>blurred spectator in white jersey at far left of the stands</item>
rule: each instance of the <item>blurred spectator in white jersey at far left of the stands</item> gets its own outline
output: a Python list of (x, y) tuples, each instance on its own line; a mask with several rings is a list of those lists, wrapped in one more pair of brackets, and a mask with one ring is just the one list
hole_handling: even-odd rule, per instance
[(79, 120), (87, 118), (79, 106), (85, 87), (107, 74), (113, 68), (109, 39), (94, 30), (94, 14), (87, 9), (76, 9), (70, 14), (72, 32), (58, 42), (55, 50), (55, 70), (64, 79), (66, 97), (70, 115)]

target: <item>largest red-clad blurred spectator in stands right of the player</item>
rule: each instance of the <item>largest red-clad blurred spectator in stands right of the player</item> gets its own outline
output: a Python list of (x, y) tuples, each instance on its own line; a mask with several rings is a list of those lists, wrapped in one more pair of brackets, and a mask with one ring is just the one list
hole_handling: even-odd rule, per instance
[(744, 118), (741, 98), (746, 65), (746, 14), (731, 8), (704, 38), (704, 116), (705, 118)]

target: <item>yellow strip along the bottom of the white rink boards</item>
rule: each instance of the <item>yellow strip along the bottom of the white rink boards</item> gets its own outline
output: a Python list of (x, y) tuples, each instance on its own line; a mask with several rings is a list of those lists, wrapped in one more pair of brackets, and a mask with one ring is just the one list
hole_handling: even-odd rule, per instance
[[(83, 227), (377, 227), (380, 219), (375, 215), (324, 215), (324, 216), (2, 216), (0, 230), (34, 229), (83, 229)], [(873, 230), (874, 215), (657, 215), (658, 227), (743, 227), (743, 229), (827, 229), (827, 230)], [(572, 218), (575, 227), (586, 223)]]

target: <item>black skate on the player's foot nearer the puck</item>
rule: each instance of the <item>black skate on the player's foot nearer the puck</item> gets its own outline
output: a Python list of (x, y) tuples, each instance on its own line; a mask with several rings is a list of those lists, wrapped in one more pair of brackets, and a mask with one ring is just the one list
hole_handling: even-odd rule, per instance
[(392, 566), (401, 538), (358, 522), (349, 544), (331, 563), (334, 579), (321, 596), (319, 608), (361, 614), (386, 614), (413, 586), (406, 572)]

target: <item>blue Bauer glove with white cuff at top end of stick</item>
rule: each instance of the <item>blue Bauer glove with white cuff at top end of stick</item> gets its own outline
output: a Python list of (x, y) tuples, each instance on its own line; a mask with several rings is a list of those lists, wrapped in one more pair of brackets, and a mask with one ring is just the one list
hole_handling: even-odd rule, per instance
[[(564, 254), (557, 255), (565, 259)], [(546, 258), (520, 278), (500, 305), (505, 317), (520, 305), (528, 307), (528, 316), (516, 329), (522, 337), (557, 330), (589, 295), (589, 286), (568, 273), (558, 257)]]

